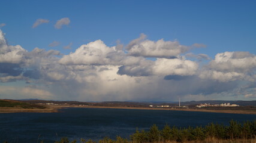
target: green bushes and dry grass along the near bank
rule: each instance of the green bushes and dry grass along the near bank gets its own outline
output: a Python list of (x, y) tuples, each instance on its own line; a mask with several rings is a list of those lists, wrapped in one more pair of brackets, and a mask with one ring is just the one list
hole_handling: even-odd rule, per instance
[[(44, 141), (38, 138), (38, 142)], [(55, 143), (96, 143), (91, 139), (80, 141), (70, 141), (68, 138), (61, 138)], [(176, 126), (165, 125), (163, 129), (158, 129), (156, 125), (151, 126), (149, 130), (136, 130), (130, 135), (130, 138), (122, 138), (117, 136), (116, 139), (109, 137), (100, 139), (98, 143), (176, 143), (176, 142), (205, 142), (205, 143), (242, 143), (256, 142), (256, 120), (252, 122), (239, 123), (234, 120), (230, 121), (228, 126), (210, 123), (204, 127), (197, 126), (195, 128), (177, 128)], [(5, 141), (4, 143), (8, 143)]]

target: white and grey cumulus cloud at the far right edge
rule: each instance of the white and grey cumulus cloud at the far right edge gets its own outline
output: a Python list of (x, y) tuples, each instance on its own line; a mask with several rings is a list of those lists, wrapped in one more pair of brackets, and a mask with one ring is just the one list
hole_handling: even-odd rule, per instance
[(228, 82), (255, 81), (256, 56), (249, 52), (223, 52), (202, 69), (199, 77)]

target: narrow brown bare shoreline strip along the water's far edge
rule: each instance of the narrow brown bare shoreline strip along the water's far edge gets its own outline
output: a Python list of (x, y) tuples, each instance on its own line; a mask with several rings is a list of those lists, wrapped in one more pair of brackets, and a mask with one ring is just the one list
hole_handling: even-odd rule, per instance
[(19, 107), (0, 107), (0, 113), (56, 113), (61, 108), (118, 108), (118, 109), (134, 109), (134, 110), (171, 110), (171, 111), (200, 111), (212, 113), (231, 113), (231, 114), (256, 114), (255, 110), (206, 110), (206, 109), (188, 109), (188, 108), (152, 108), (152, 107), (109, 107), (109, 106), (79, 106), (79, 105), (44, 105), (44, 109), (26, 109)]

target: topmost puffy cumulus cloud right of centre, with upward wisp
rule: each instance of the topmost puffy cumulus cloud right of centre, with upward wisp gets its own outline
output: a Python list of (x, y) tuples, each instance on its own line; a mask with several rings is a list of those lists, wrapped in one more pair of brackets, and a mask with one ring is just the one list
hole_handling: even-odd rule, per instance
[(128, 54), (143, 57), (170, 58), (176, 57), (190, 49), (189, 46), (180, 45), (178, 41), (164, 41), (160, 39), (156, 42), (145, 40), (146, 35), (141, 34), (140, 38), (134, 39), (126, 47)]

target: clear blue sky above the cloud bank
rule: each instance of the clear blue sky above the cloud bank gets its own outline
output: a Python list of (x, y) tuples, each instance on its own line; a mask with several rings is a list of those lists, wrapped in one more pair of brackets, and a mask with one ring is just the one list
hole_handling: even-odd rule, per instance
[[(29, 51), (49, 43), (73, 42), (73, 51), (97, 39), (127, 44), (140, 33), (156, 41), (177, 39), (184, 45), (204, 43), (205, 54), (251, 51), (255, 54), (254, 1), (4, 1), (1, 23), (10, 43)], [(57, 20), (71, 23), (55, 29)], [(38, 18), (50, 20), (32, 29)], [(58, 50), (67, 52), (59, 45)], [(71, 50), (72, 51), (72, 50)], [(70, 51), (68, 51), (70, 52)]]

